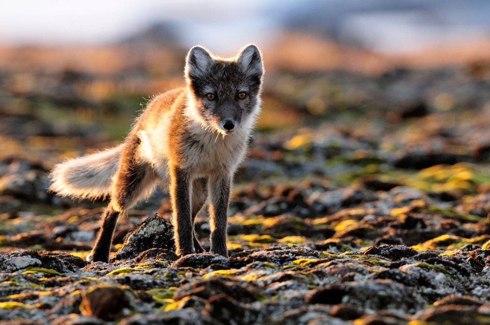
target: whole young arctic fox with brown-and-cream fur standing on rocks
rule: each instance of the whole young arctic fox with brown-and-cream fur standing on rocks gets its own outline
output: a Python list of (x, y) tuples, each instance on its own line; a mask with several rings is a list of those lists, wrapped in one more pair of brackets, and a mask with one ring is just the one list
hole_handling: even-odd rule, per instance
[(87, 261), (109, 262), (119, 216), (157, 185), (169, 189), (176, 254), (205, 252), (194, 222), (208, 201), (209, 251), (228, 257), (232, 180), (260, 112), (263, 75), (254, 44), (229, 58), (195, 46), (185, 59), (185, 86), (150, 100), (120, 145), (53, 167), (49, 191), (108, 199)]

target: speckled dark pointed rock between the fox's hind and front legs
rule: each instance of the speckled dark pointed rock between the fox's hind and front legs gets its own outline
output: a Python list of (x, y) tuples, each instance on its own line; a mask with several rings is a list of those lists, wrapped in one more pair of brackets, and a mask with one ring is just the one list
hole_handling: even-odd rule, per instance
[(123, 246), (117, 251), (114, 260), (134, 258), (152, 248), (175, 250), (174, 227), (157, 214), (148, 217), (126, 235)]

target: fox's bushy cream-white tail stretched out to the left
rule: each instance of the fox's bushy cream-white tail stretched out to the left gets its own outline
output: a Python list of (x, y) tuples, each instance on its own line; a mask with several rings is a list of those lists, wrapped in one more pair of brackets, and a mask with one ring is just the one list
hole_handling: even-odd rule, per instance
[(123, 145), (57, 164), (49, 191), (74, 199), (97, 199), (110, 194)]

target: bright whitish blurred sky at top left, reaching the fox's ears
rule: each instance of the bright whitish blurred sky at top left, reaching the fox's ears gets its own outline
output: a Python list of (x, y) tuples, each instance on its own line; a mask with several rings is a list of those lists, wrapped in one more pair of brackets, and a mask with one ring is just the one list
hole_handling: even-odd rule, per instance
[[(261, 0), (3, 0), (0, 43), (98, 44), (165, 19), (184, 22), (189, 45), (252, 42), (272, 28)], [(269, 5), (271, 2), (268, 3)], [(185, 39), (188, 38), (188, 39)], [(233, 44), (230, 44), (232, 46)], [(210, 46), (210, 45), (209, 45)]]

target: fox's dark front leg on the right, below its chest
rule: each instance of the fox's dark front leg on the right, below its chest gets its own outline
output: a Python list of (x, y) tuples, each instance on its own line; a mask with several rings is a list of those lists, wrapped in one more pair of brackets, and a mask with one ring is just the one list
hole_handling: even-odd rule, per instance
[(209, 218), (211, 228), (211, 253), (228, 257), (226, 233), (228, 228), (228, 202), (230, 200), (230, 174), (214, 175), (209, 179)]

